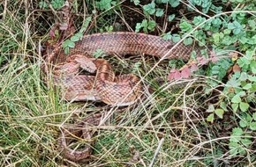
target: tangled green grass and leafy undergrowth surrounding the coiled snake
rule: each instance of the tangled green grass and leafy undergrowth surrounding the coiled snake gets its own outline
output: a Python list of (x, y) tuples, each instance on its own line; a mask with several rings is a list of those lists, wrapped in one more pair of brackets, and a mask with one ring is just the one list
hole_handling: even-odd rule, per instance
[[(255, 3), (70, 2), (71, 13), (64, 0), (0, 3), (1, 166), (84, 166), (63, 158), (59, 128), (102, 111), (113, 115), (109, 126), (94, 135), (88, 166), (255, 165)], [(183, 40), (200, 45), (201, 52), (213, 52), (201, 59), (192, 53), (192, 65), (198, 68), (189, 78), (171, 81), (170, 71), (185, 62), (144, 55), (104, 57), (117, 74), (136, 74), (151, 89), (123, 113), (89, 101), (66, 102), (46, 86), (41, 65), (50, 47), (62, 43), (68, 53), (84, 33), (116, 31)]]

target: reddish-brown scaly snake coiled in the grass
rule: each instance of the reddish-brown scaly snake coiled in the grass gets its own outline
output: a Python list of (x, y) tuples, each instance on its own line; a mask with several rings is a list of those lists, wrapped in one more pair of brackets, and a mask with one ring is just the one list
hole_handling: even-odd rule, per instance
[[(141, 94), (139, 78), (133, 75), (115, 76), (109, 63), (102, 59), (91, 58), (97, 49), (105, 54), (149, 54), (157, 57), (165, 55), (167, 59), (188, 60), (192, 51), (200, 54), (198, 47), (184, 46), (163, 40), (161, 37), (143, 33), (95, 33), (86, 35), (70, 49), (70, 55), (63, 52), (49, 54), (47, 60), (52, 62), (54, 84), (64, 88), (66, 100), (102, 100), (109, 105), (131, 105)], [(168, 54), (169, 53), (169, 54)], [(79, 69), (96, 72), (96, 76), (79, 75)], [(86, 124), (97, 126), (101, 113), (94, 114), (73, 128), (63, 130), (59, 138), (64, 156), (72, 161), (83, 161), (91, 155), (91, 147), (84, 150), (72, 150), (68, 143), (74, 136), (90, 140), (91, 130)], [(83, 127), (83, 128), (82, 128)]]

